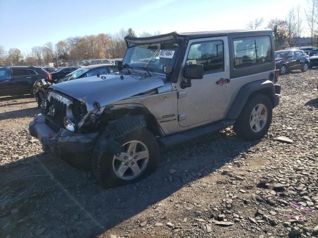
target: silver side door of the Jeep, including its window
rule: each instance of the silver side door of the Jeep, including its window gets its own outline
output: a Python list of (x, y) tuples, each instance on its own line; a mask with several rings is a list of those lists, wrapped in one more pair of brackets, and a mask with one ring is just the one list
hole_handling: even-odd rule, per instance
[(203, 64), (203, 79), (192, 80), (191, 87), (182, 89), (178, 80), (178, 121), (182, 127), (198, 123), (209, 123), (224, 119), (230, 104), (230, 88), (227, 83), (217, 84), (229, 79), (229, 50), (227, 37), (213, 37), (190, 40), (182, 72), (185, 65)]

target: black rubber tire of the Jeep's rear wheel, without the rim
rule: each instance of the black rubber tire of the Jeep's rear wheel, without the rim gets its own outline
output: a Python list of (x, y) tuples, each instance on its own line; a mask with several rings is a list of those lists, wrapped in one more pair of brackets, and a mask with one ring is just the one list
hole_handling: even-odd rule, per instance
[[(263, 104), (267, 109), (267, 121), (261, 131), (255, 132), (250, 125), (252, 110), (258, 105)], [(239, 114), (239, 118), (234, 124), (236, 134), (246, 140), (257, 140), (262, 138), (268, 131), (272, 121), (273, 106), (270, 99), (264, 94), (255, 94), (247, 99), (245, 106)]]

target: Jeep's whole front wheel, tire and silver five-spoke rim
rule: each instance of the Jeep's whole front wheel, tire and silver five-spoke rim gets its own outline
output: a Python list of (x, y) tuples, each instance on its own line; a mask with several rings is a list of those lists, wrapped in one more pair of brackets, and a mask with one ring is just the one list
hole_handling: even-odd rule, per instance
[(97, 142), (92, 156), (93, 173), (105, 187), (133, 183), (155, 171), (159, 163), (159, 145), (149, 130), (141, 128), (116, 141), (123, 146), (120, 154), (100, 151), (100, 142)]

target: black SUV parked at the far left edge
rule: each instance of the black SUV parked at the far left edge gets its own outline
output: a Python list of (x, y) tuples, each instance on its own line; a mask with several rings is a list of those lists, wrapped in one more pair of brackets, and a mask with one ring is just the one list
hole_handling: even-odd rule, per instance
[(39, 79), (51, 79), (51, 74), (34, 66), (0, 67), (0, 96), (32, 95), (32, 87)]

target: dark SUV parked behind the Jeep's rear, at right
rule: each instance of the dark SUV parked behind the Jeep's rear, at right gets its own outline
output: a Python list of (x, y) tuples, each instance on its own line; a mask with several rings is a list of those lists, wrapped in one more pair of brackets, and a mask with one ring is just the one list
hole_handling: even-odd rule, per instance
[(297, 49), (276, 51), (275, 64), (280, 74), (296, 69), (306, 72), (309, 68), (309, 60), (306, 53)]

